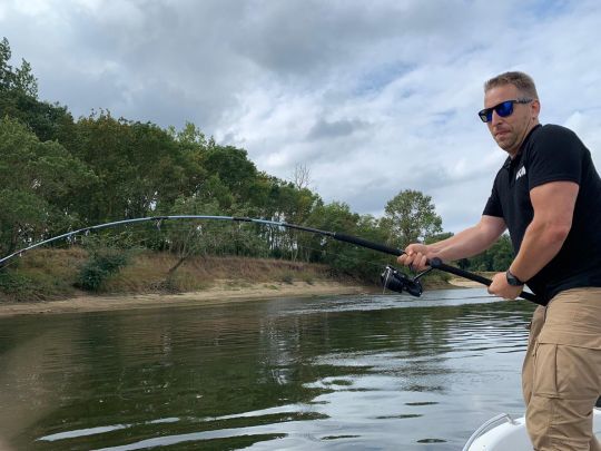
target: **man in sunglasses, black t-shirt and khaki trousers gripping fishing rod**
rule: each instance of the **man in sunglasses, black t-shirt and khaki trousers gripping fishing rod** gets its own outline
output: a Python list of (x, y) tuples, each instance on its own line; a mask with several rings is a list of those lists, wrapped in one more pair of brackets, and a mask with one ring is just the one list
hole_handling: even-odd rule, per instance
[(538, 451), (601, 450), (592, 409), (601, 393), (601, 179), (574, 133), (539, 124), (533, 80), (505, 72), (484, 85), (479, 112), (509, 154), (480, 222), (398, 262), (424, 268), (489, 248), (509, 229), (515, 258), (489, 293), (513, 300), (524, 284), (534, 312), (522, 370), (526, 427)]

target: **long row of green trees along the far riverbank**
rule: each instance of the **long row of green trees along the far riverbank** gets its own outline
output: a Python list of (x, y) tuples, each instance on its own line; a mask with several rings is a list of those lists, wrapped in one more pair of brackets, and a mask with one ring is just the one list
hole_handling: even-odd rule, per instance
[[(401, 190), (376, 218), (344, 203), (325, 204), (298, 166), (290, 180), (257, 169), (246, 150), (207, 138), (194, 124), (181, 130), (115, 118), (107, 110), (75, 119), (66, 106), (38, 98), (30, 65), (10, 65), (0, 42), (0, 254), (66, 231), (125, 218), (175, 214), (250, 216), (304, 224), (404, 247), (435, 239), (442, 219), (430, 196)], [(402, 180), (400, 180), (402, 182)], [(278, 228), (224, 224), (139, 226), (117, 245), (188, 255), (278, 257), (331, 265), (373, 280), (390, 257)], [(112, 232), (115, 234), (115, 232)], [(444, 236), (444, 234), (443, 234)], [(446, 235), (447, 236), (447, 235)], [(115, 244), (115, 243), (114, 243)], [(462, 261), (472, 269), (503, 269), (511, 246)]]

